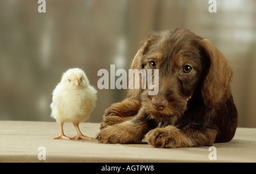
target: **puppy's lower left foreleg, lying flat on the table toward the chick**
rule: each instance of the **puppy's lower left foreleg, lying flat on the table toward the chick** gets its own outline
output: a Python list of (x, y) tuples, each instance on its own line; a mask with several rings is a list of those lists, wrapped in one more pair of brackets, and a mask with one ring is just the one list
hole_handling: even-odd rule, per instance
[(141, 143), (144, 135), (148, 131), (148, 125), (147, 122), (144, 121), (143, 116), (138, 115), (135, 116), (133, 120), (102, 129), (96, 135), (96, 139), (101, 143)]

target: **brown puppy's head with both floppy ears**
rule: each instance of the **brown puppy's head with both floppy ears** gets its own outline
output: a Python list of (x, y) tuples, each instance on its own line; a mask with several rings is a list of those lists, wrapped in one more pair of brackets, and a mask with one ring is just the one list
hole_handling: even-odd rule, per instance
[(214, 108), (229, 94), (232, 71), (223, 54), (209, 40), (186, 29), (152, 33), (138, 50), (131, 69), (158, 69), (159, 92), (130, 90), (152, 115), (181, 115), (188, 101)]

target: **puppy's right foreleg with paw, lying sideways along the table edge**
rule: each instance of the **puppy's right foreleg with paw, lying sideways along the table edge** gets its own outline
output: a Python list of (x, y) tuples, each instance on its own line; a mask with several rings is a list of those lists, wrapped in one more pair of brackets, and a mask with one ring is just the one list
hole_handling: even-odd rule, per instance
[(174, 125), (165, 128), (155, 128), (146, 135), (146, 141), (154, 147), (193, 147), (211, 146), (217, 135), (214, 128), (186, 128), (178, 129)]

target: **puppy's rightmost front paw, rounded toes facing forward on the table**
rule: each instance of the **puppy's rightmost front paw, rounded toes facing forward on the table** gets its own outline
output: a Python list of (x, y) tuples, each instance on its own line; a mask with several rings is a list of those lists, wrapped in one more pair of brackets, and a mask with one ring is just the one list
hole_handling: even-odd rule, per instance
[(148, 144), (154, 147), (175, 148), (189, 146), (187, 138), (176, 129), (156, 128), (149, 131), (145, 138)]

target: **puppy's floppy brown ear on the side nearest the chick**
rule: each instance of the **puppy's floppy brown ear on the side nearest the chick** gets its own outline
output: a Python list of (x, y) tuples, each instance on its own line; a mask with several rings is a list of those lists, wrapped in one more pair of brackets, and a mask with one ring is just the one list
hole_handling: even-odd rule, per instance
[[(132, 69), (132, 70), (134, 70), (134, 69), (141, 70), (143, 68), (142, 67), (142, 56), (145, 52), (145, 49), (147, 48), (147, 45), (148, 45), (148, 41), (144, 41), (141, 48), (139, 48), (138, 52), (135, 54), (135, 57), (133, 59), (133, 62), (131, 63), (130, 69)], [(133, 83), (133, 89), (129, 89), (128, 94), (127, 94), (127, 97), (130, 100), (139, 100), (139, 95), (141, 95), (141, 92), (142, 92), (141, 82), (142, 82), (142, 79), (140, 77), (139, 89), (135, 89), (135, 79), (134, 79), (134, 77), (133, 77), (133, 82), (131, 82), (131, 80), (129, 80), (129, 83)]]

